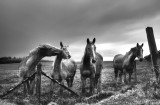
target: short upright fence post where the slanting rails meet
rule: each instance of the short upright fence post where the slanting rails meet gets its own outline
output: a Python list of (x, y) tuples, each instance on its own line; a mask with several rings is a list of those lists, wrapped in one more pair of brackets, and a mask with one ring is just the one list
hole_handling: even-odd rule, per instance
[(38, 63), (37, 65), (37, 80), (36, 80), (36, 95), (37, 99), (40, 102), (41, 97), (41, 70), (42, 70), (42, 64)]

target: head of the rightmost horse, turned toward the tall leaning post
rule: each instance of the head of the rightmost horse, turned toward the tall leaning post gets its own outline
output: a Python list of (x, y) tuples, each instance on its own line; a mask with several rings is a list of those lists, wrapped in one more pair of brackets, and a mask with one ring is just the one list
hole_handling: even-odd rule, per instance
[(139, 59), (139, 61), (141, 62), (143, 60), (143, 43), (142, 45), (139, 45), (137, 43), (137, 46), (136, 46), (136, 57)]

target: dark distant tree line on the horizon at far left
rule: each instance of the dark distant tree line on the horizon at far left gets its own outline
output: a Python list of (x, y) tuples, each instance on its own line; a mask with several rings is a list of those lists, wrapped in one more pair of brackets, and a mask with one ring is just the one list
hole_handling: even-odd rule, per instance
[(23, 58), (20, 57), (0, 57), (0, 64), (5, 63), (20, 63)]

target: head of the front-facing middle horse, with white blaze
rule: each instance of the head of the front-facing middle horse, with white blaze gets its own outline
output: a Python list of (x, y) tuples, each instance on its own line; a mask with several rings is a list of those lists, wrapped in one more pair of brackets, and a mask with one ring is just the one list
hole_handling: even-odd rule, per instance
[(86, 56), (90, 57), (91, 62), (95, 63), (96, 62), (96, 46), (95, 46), (95, 41), (96, 39), (94, 38), (93, 41), (91, 42), (89, 38), (87, 38), (87, 45), (85, 49), (85, 54)]

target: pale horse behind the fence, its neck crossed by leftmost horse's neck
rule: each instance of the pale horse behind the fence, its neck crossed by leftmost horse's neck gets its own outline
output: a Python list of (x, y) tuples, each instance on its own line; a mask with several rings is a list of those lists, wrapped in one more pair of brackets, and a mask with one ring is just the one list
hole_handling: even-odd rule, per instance
[[(64, 46), (62, 42), (60, 42), (61, 49), (65, 52), (68, 52), (67, 47)], [(70, 56), (71, 57), (71, 56)], [(73, 85), (73, 79), (76, 73), (77, 65), (73, 59), (64, 59), (61, 55), (57, 55), (55, 62), (53, 64), (53, 71), (51, 77), (55, 80), (58, 80), (61, 84), (64, 84), (66, 80), (69, 88)], [(50, 82), (50, 95), (53, 94), (53, 86), (54, 83)], [(63, 88), (60, 87), (60, 94), (62, 94)]]

